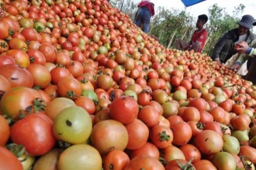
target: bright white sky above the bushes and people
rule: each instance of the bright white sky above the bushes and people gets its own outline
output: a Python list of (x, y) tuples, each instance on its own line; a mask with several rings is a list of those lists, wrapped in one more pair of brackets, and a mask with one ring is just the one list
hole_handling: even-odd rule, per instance
[[(141, 0), (134, 1), (140, 2)], [(180, 10), (185, 8), (181, 0), (151, 0), (151, 2), (154, 3), (155, 8), (158, 6)], [(250, 14), (256, 19), (256, 0), (205, 0), (193, 6), (186, 7), (186, 11), (188, 11), (193, 17), (197, 17), (200, 14), (208, 15), (208, 8), (215, 3), (217, 3), (219, 7), (225, 8), (225, 11), (231, 15), (235, 7), (243, 3), (245, 8), (242, 15)], [(256, 26), (253, 28), (253, 31), (256, 32)]]

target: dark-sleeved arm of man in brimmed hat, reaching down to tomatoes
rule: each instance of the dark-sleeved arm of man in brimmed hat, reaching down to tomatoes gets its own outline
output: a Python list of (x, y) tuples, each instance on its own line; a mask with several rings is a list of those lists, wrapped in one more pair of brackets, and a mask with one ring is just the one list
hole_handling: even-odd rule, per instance
[(212, 52), (212, 59), (220, 63), (220, 53), (221, 49), (223, 48), (225, 42), (230, 39), (230, 34), (227, 32), (221, 39), (216, 43), (213, 52)]

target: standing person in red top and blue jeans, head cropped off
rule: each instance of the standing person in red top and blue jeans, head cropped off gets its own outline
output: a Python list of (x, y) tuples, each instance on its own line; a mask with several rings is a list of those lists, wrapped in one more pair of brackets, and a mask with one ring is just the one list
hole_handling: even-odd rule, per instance
[(145, 0), (139, 3), (134, 23), (140, 27), (143, 24), (143, 31), (148, 33), (151, 16), (154, 15), (154, 3)]

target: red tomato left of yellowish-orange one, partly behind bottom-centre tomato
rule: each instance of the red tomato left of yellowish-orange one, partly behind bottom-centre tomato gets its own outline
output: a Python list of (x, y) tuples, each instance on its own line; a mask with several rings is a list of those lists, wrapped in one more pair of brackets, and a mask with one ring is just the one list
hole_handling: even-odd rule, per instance
[(160, 156), (159, 150), (154, 144), (146, 142), (142, 147), (131, 150), (131, 158), (134, 158), (139, 155), (147, 155), (153, 158), (158, 159)]

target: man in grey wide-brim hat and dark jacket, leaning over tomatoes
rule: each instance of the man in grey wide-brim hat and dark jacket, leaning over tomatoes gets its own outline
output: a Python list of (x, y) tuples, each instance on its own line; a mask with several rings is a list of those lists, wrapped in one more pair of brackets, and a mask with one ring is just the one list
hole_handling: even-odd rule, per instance
[(236, 54), (234, 46), (241, 41), (250, 44), (255, 39), (254, 34), (250, 31), (253, 28), (254, 18), (251, 15), (244, 15), (238, 22), (238, 27), (228, 31), (223, 37), (216, 43), (212, 59), (218, 63), (227, 62), (230, 57)]

